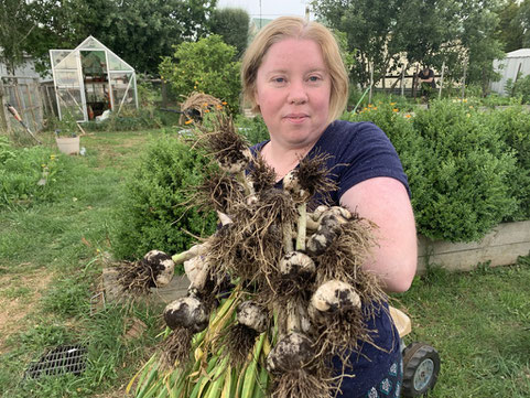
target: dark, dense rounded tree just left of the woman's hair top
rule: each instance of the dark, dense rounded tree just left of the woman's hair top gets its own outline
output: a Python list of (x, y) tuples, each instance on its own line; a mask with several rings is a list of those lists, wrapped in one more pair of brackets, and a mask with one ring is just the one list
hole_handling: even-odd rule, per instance
[(239, 57), (247, 49), (249, 23), (250, 17), (244, 9), (216, 9), (212, 14), (212, 33), (235, 46)]

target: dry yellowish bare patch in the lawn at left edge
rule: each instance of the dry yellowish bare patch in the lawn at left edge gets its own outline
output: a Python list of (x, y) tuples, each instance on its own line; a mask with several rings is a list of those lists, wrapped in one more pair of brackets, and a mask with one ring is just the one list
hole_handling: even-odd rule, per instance
[[(39, 302), (53, 275), (47, 269), (36, 269), (22, 276), (0, 276), (0, 354), (7, 353), (9, 337), (20, 332), (24, 318)], [(20, 289), (20, 294), (14, 294)]]

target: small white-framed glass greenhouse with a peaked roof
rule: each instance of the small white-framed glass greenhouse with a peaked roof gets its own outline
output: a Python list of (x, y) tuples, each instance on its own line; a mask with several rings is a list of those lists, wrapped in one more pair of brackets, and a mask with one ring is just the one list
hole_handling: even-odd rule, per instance
[(97, 39), (88, 36), (75, 50), (50, 50), (50, 57), (61, 120), (138, 108), (134, 69)]

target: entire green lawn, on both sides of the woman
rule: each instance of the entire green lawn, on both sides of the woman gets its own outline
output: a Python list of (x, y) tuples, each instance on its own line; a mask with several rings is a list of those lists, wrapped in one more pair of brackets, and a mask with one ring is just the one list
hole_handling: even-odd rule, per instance
[[(161, 130), (82, 137), (85, 157), (65, 157), (51, 203), (0, 209), (0, 395), (123, 397), (162, 331), (152, 302), (102, 302), (101, 269), (122, 186), (144, 144)], [(52, 137), (45, 137), (52, 146)], [(434, 346), (442, 372), (431, 397), (528, 397), (530, 260), (468, 273), (435, 266), (396, 295), (410, 314), (407, 342)], [(138, 325), (141, 325), (138, 332)], [(86, 370), (24, 379), (50, 348), (83, 344)]]

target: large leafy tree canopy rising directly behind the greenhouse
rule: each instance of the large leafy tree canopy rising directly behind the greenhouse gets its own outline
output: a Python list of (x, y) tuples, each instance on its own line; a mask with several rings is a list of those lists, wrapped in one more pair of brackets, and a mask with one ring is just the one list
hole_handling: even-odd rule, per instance
[(72, 49), (94, 35), (137, 71), (156, 74), (174, 45), (209, 32), (216, 1), (35, 0), (41, 11), (32, 53), (46, 64), (47, 50)]

